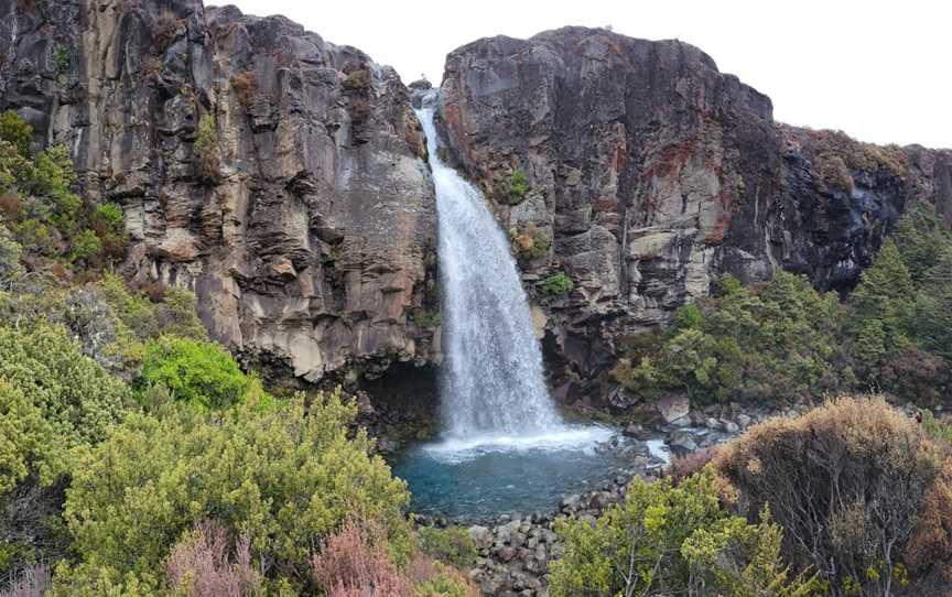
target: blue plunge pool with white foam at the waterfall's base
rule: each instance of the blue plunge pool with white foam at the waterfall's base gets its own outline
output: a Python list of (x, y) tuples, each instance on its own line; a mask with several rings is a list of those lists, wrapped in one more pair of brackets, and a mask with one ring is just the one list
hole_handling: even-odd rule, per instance
[[(416, 444), (391, 459), (413, 496), (410, 510), (452, 520), (486, 521), (504, 513), (551, 512), (571, 493), (638, 473), (668, 458), (663, 441), (637, 442), (597, 425), (551, 433), (445, 438)], [(642, 460), (643, 463), (643, 460)]]

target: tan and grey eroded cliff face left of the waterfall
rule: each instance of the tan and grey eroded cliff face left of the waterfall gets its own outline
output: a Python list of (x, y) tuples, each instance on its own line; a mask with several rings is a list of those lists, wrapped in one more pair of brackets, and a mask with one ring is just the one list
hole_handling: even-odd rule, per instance
[(432, 182), (391, 68), (199, 0), (0, 0), (8, 107), (122, 207), (125, 273), (193, 289), (239, 354), (312, 381), (436, 358)]

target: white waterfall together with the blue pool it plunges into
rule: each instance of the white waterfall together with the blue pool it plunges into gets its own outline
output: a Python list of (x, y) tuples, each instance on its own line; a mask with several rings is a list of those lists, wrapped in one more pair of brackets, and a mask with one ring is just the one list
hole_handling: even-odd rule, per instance
[(551, 508), (566, 491), (630, 474), (629, 464), (598, 449), (610, 430), (567, 425), (555, 412), (509, 242), (482, 194), (440, 160), (435, 100), (434, 91), (416, 116), (440, 221), (445, 431), (400, 454), (393, 470), (410, 485), (414, 512), (473, 519)]

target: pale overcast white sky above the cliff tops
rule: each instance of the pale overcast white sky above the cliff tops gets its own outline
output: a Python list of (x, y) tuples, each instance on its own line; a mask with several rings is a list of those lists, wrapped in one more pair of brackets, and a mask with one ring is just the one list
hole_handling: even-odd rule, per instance
[[(207, 3), (221, 4), (215, 0)], [(864, 141), (952, 148), (949, 0), (232, 0), (434, 84), (479, 37), (567, 24), (701, 47), (774, 100), (775, 118)]]

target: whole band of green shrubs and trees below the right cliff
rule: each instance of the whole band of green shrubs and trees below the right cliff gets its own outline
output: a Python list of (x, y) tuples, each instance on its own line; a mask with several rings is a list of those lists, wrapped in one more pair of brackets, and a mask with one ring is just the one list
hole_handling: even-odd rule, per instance
[(873, 387), (938, 403), (952, 390), (952, 234), (920, 208), (894, 239), (845, 302), (786, 272), (751, 287), (725, 276), (664, 333), (629, 339), (612, 376), (646, 399), (822, 401)]

